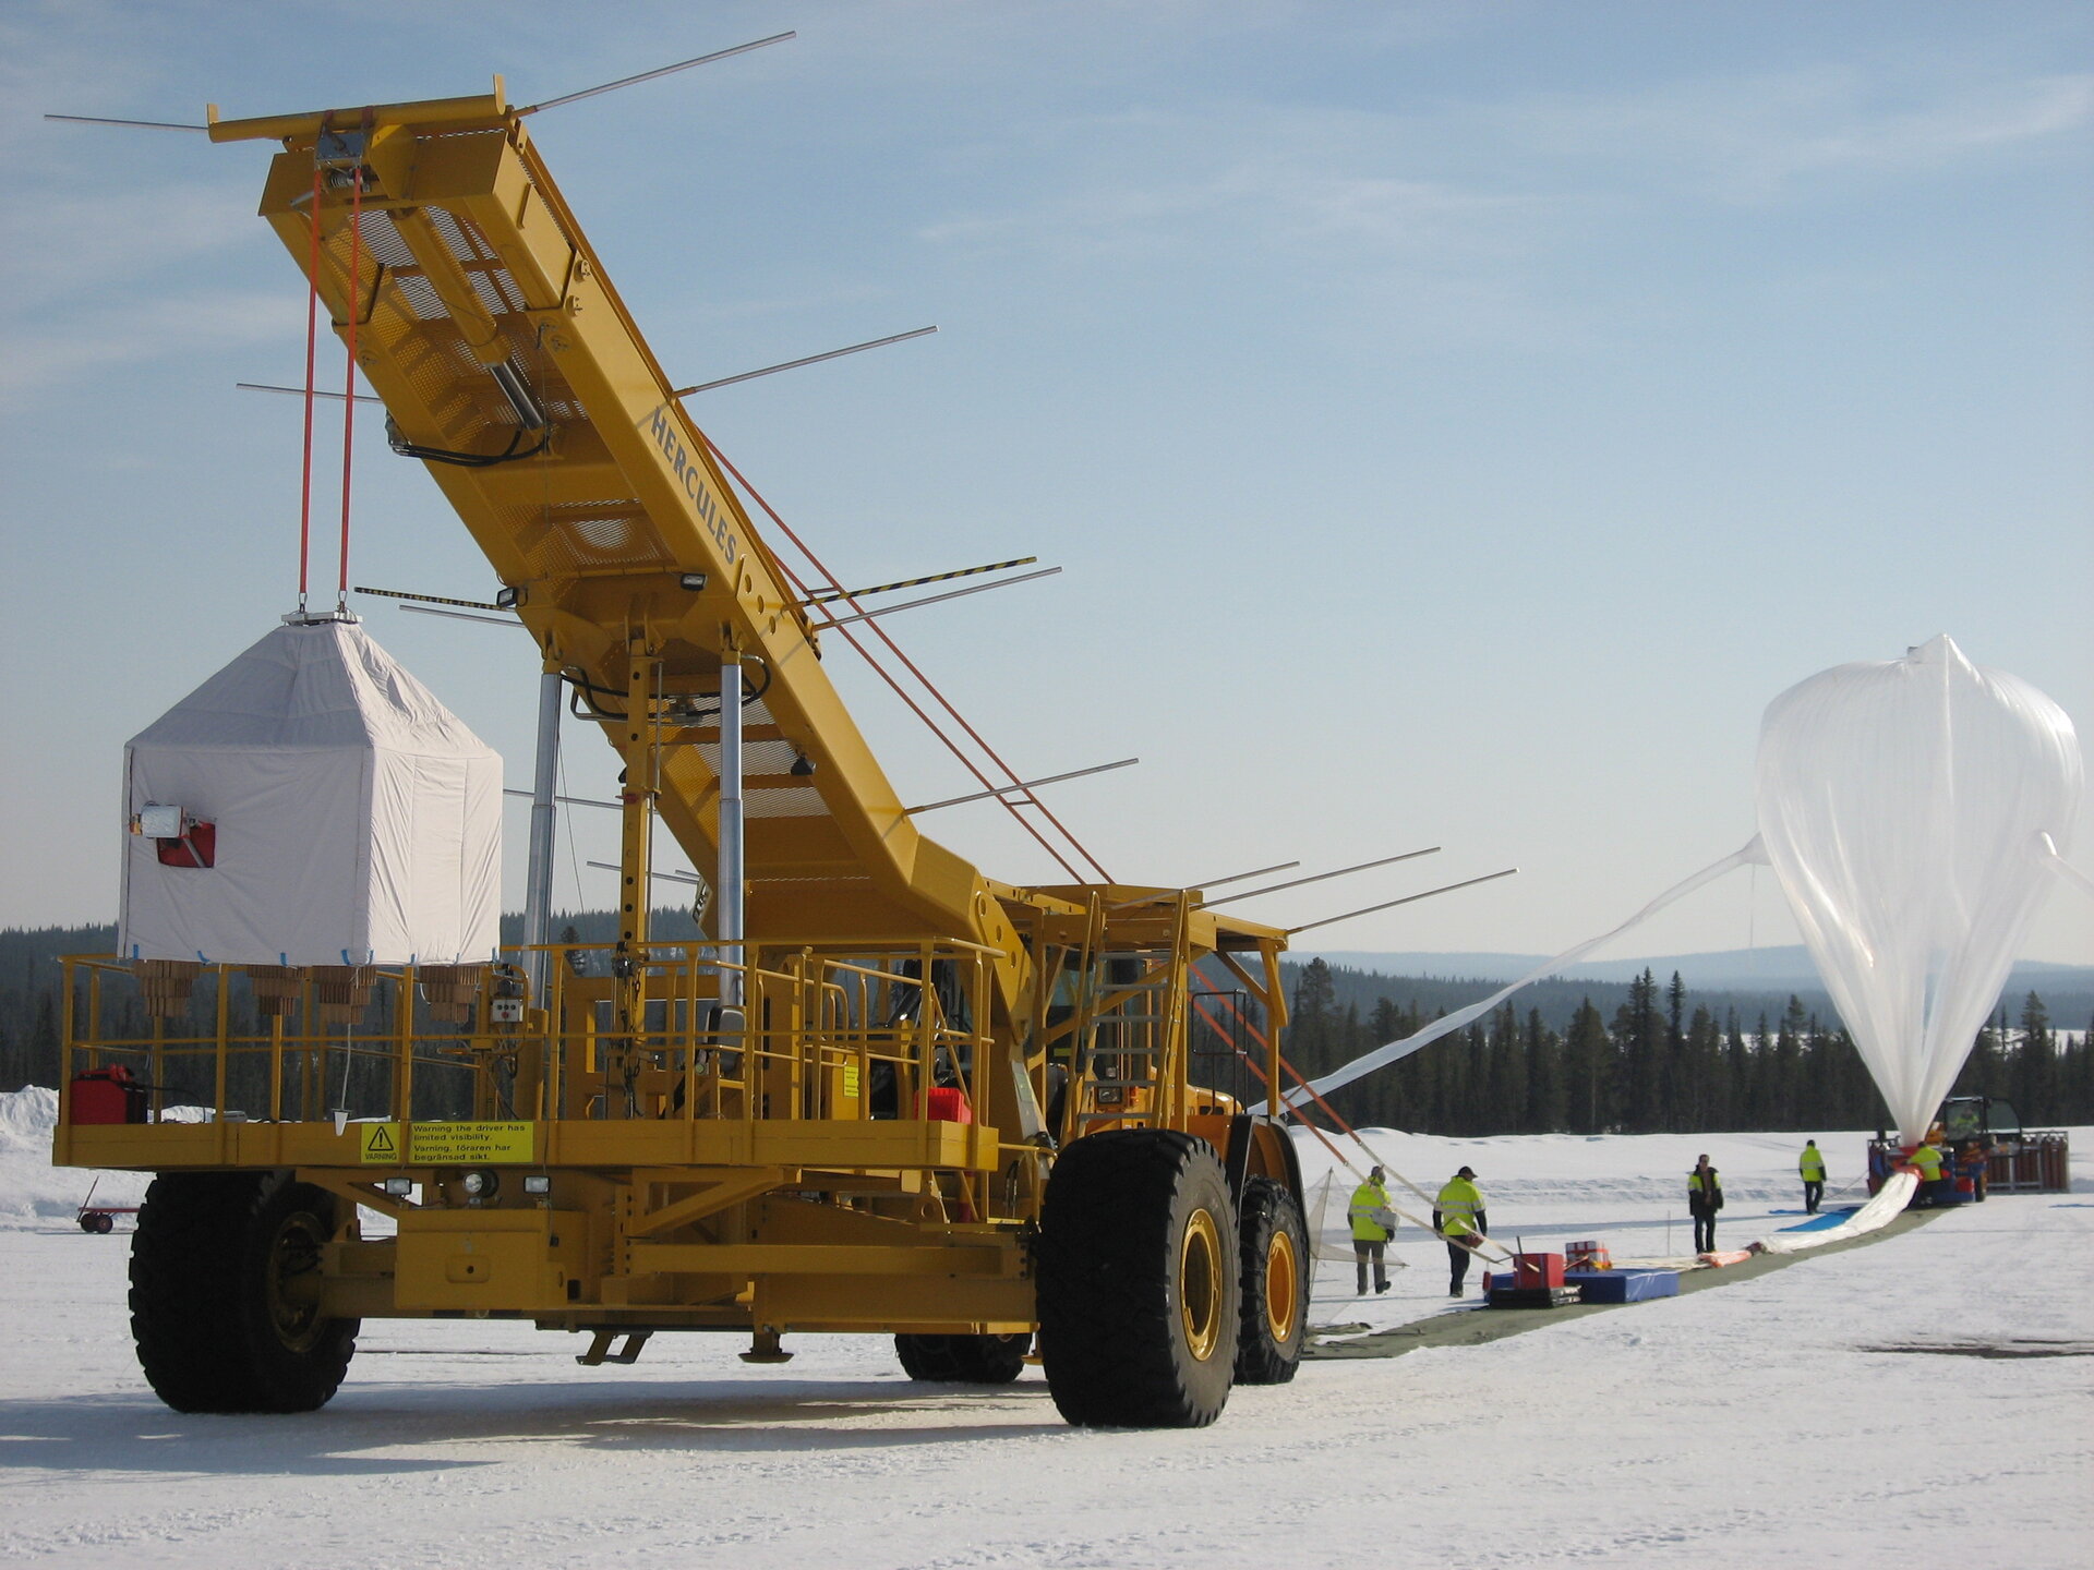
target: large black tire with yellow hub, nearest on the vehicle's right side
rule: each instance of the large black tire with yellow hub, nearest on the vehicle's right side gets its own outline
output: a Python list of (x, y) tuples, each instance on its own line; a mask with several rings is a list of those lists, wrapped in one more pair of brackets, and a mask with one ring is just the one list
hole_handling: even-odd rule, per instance
[(1235, 1206), (1215, 1147), (1118, 1128), (1064, 1149), (1039, 1237), (1041, 1365), (1083, 1428), (1204, 1428), (1235, 1373)]

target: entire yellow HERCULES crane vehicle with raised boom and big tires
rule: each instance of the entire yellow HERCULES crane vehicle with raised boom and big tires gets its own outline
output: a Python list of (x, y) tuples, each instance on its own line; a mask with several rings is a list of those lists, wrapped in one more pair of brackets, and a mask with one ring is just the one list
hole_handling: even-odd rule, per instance
[[(756, 1361), (888, 1331), (911, 1377), (972, 1384), (1018, 1377), (1037, 1333), (1076, 1423), (1206, 1423), (1231, 1384), (1292, 1377), (1300, 1170), (1217, 1086), (1240, 1059), (1277, 1082), (1286, 934), (1198, 890), (997, 883), (917, 831), (823, 668), (819, 597), (524, 115), (496, 80), (214, 107), (209, 134), (283, 144), (262, 216), (622, 758), (618, 944), (536, 950), (542, 984), (507, 959), (69, 959), (52, 1160), (157, 1172), (132, 1269), (153, 1388), (310, 1411), (360, 1319), (421, 1315), (588, 1331), (584, 1363), (658, 1331), (743, 1331)], [(649, 942), (655, 814), (722, 883), (710, 944)], [(161, 1116), (174, 1084), (209, 1116)]]

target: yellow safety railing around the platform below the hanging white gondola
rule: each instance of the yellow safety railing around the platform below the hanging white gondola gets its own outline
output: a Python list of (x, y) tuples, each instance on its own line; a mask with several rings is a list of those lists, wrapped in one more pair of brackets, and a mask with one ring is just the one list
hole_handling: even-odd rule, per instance
[(637, 978), (611, 973), (611, 944), (547, 944), (542, 1007), (521, 952), (356, 969), (73, 957), (63, 1082), (121, 1066), (153, 1120), (180, 1105), (253, 1122), (907, 1120), (978, 1103), (990, 950), (974, 944), (768, 950), (768, 965), (664, 944)]

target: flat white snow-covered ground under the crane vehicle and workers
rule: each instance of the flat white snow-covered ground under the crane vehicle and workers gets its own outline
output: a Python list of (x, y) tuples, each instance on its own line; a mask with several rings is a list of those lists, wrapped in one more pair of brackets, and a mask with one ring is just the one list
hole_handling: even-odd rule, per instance
[[(2094, 1564), (2094, 1128), (2069, 1195), (1480, 1346), (1309, 1363), (1200, 1432), (1093, 1434), (1037, 1371), (913, 1386), (875, 1338), (789, 1338), (785, 1367), (655, 1338), (580, 1369), (578, 1338), (456, 1321), (366, 1323), (310, 1417), (182, 1417), (132, 1363), (126, 1233), (73, 1227), (88, 1174), (44, 1164), (48, 1116), (0, 1097), (0, 1562)], [(1671, 1212), (1684, 1250), (1705, 1149), (1723, 1246), (1795, 1220), (1769, 1214), (1797, 1204), (1788, 1135), (1367, 1139), (1428, 1191), (1474, 1166), (1506, 1239), (1661, 1254)], [(1818, 1139), (1839, 1189), (1862, 1135)], [(1449, 1304), (1428, 1237), (1395, 1252), (1411, 1269), (1365, 1304), (1326, 1266), (1317, 1319), (1489, 1313)]]

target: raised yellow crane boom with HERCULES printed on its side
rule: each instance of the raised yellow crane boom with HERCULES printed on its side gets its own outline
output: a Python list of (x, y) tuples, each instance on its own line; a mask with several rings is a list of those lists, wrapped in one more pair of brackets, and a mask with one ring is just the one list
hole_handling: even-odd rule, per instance
[[(209, 134), (285, 142), (262, 216), (337, 331), (354, 318), (358, 368), (396, 446), (446, 454), (427, 458), (429, 475), (517, 590), (549, 668), (584, 685), (599, 712), (626, 708), (637, 659), (660, 710), (695, 699), (691, 722), (660, 739), (655, 806), (704, 869), (718, 831), (716, 718), (708, 726), (704, 705), (722, 651), (752, 666), (752, 929), (1011, 946), (980, 873), (903, 810), (823, 670), (800, 592), (672, 396), (500, 84), (484, 98), (348, 115), (214, 111)], [(322, 136), (341, 151), (320, 170)], [(352, 203), (343, 182), (358, 167), (369, 184)], [(536, 414), (544, 425), (532, 429)], [(605, 733), (639, 779), (630, 726), (607, 720)]]

